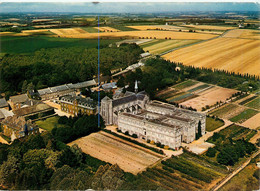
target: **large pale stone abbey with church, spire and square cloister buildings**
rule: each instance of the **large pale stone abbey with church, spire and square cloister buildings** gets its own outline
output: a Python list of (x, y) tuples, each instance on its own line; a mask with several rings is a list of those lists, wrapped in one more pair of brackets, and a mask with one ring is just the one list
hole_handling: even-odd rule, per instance
[(178, 150), (182, 142), (191, 143), (196, 133), (205, 134), (206, 114), (150, 100), (144, 92), (126, 92), (120, 97), (101, 100), (101, 116), (106, 125), (117, 125), (123, 133), (160, 142)]

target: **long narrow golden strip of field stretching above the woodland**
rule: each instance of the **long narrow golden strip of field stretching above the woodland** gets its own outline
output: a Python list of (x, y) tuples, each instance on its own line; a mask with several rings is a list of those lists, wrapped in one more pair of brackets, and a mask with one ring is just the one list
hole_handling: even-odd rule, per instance
[[(55, 30), (55, 32), (53, 31)], [(57, 34), (60, 30), (69, 30), (69, 29), (51, 29), (51, 32)], [(89, 39), (96, 39), (98, 35), (101, 38), (126, 38), (126, 39), (133, 39), (133, 38), (144, 38), (144, 39), (199, 39), (199, 40), (206, 40), (217, 35), (213, 34), (201, 34), (201, 33), (189, 33), (189, 32), (172, 32), (172, 31), (123, 31), (123, 32), (113, 32), (113, 33), (59, 33), (60, 37), (65, 38), (89, 38)]]

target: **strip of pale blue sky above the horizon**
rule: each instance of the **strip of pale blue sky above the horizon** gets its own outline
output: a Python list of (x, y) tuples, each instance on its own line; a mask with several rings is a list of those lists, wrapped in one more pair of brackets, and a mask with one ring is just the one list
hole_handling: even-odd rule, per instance
[(2, 2), (0, 13), (74, 12), (74, 13), (158, 13), (185, 11), (260, 11), (254, 2)]

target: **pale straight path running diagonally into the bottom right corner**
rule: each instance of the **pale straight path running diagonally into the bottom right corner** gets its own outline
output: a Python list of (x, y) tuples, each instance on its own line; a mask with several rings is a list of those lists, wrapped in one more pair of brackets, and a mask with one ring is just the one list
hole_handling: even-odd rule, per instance
[(244, 169), (251, 161), (252, 158), (256, 157), (258, 154), (260, 154), (260, 150), (258, 150), (256, 153), (254, 153), (249, 159), (247, 159), (246, 162), (244, 162), (241, 166), (239, 166), (236, 170), (234, 170), (231, 174), (226, 176), (220, 183), (218, 183), (216, 186), (214, 186), (211, 191), (217, 191), (222, 186), (224, 186), (232, 177), (234, 177), (237, 173), (239, 173), (242, 169)]

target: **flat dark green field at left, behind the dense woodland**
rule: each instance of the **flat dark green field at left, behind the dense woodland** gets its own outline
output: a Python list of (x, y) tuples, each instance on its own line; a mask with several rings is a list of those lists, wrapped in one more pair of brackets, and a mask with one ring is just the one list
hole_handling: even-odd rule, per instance
[[(100, 45), (109, 45), (117, 42), (117, 40), (101, 40)], [(1, 37), (1, 53), (31, 53), (42, 48), (58, 48), (58, 47), (86, 47), (96, 48), (98, 46), (97, 40), (88, 39), (69, 39), (56, 38), (46, 36), (30, 36), (30, 37)]]

